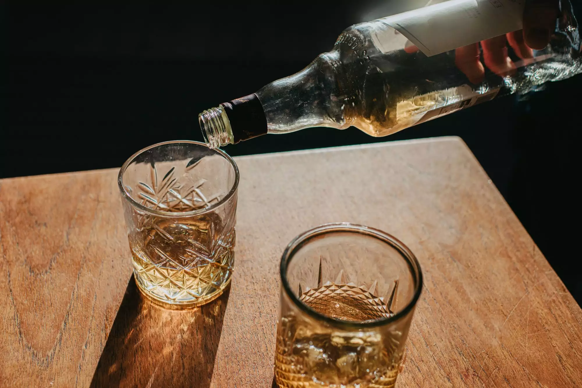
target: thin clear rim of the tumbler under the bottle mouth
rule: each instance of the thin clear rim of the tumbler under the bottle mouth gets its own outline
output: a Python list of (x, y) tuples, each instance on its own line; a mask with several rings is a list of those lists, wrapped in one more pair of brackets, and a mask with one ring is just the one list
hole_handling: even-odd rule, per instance
[[(147, 206), (143, 206), (143, 204), (137, 202), (127, 192), (127, 190), (125, 189), (125, 186), (123, 186), (123, 172), (125, 172), (125, 170), (127, 170), (127, 167), (130, 165), (130, 163), (132, 163), (132, 161), (138, 155), (144, 153), (147, 150), (155, 148), (155, 147), (165, 146), (166, 144), (177, 144), (177, 143), (196, 144), (197, 146), (203, 146), (207, 149), (215, 151), (216, 153), (221, 155), (223, 158), (225, 158), (230, 163), (232, 168), (235, 170), (235, 182), (233, 183), (232, 188), (230, 188), (230, 191), (228, 192), (228, 194), (226, 194), (217, 203), (213, 203), (210, 206), (203, 207), (201, 209), (190, 210), (190, 211), (163, 211), (163, 210), (156, 210), (156, 209), (151, 209), (150, 207), (147, 207)], [(119, 186), (119, 191), (121, 192), (121, 195), (127, 200), (127, 202), (132, 204), (133, 207), (136, 207), (137, 209), (144, 211), (145, 213), (155, 214), (157, 216), (164, 216), (164, 217), (189, 217), (189, 216), (197, 216), (198, 214), (208, 213), (209, 211), (212, 211), (214, 209), (217, 209), (217, 207), (222, 206), (223, 203), (227, 202), (233, 195), (235, 195), (237, 189), (239, 188), (239, 178), (240, 178), (239, 177), (239, 167), (236, 165), (235, 160), (229, 154), (227, 154), (225, 151), (218, 149), (218, 148), (211, 149), (210, 147), (207, 146), (207, 144), (201, 143), (201, 142), (194, 142), (193, 140), (170, 140), (169, 142), (161, 142), (161, 143), (152, 144), (151, 146), (145, 147), (145, 148), (137, 151), (136, 153), (134, 153), (129, 158), (127, 158), (125, 163), (123, 163), (123, 165), (119, 169), (117, 184)]]

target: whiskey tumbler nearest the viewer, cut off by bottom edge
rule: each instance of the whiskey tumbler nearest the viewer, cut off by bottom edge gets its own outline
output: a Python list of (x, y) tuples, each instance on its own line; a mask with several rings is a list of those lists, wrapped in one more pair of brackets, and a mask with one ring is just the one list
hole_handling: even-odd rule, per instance
[(281, 259), (279, 387), (393, 387), (422, 284), (385, 232), (327, 224), (295, 238)]

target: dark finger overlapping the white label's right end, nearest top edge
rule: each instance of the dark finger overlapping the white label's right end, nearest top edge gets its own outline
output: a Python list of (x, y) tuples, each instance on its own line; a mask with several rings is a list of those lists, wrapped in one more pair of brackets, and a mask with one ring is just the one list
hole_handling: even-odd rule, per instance
[(542, 50), (548, 45), (559, 15), (559, 0), (529, 0), (523, 10), (523, 36), (526, 44)]

